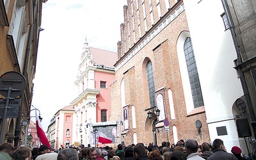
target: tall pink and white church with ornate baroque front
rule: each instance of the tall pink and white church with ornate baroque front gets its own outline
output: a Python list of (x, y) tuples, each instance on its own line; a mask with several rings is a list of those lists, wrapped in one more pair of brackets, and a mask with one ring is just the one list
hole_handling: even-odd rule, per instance
[(110, 86), (115, 81), (113, 65), (116, 60), (116, 52), (88, 47), (87, 42), (84, 44), (75, 82), (78, 95), (70, 103), (75, 109), (72, 141), (76, 144), (92, 145), (92, 124), (109, 121)]

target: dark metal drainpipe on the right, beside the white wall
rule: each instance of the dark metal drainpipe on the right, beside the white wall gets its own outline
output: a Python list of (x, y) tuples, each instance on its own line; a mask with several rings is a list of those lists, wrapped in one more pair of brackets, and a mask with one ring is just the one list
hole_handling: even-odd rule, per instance
[(233, 23), (232, 23), (230, 12), (228, 10), (227, 1), (226, 0), (221, 0), (221, 2), (223, 4), (224, 11), (227, 15), (228, 24), (230, 26), (230, 33), (232, 35), (232, 39), (233, 39), (233, 42), (234, 42), (234, 45), (235, 45), (236, 54), (237, 54), (237, 67), (236, 68), (237, 68), (237, 72), (239, 74), (239, 79), (241, 81), (241, 85), (242, 85), (243, 92), (244, 92), (244, 97), (245, 97), (246, 104), (247, 104), (247, 107), (248, 107), (248, 112), (249, 112), (249, 115), (250, 115), (250, 120), (251, 120), (251, 124), (252, 124), (252, 128), (253, 128), (254, 138), (256, 138), (256, 121), (255, 121), (254, 111), (253, 111), (253, 108), (252, 108), (252, 99), (250, 97), (250, 94), (249, 94), (249, 91), (248, 91), (248, 86), (246, 84), (246, 80), (245, 80), (245, 77), (244, 77), (244, 74), (243, 74), (243, 70), (241, 68), (241, 64), (243, 63), (243, 61), (241, 59), (239, 46), (237, 44), (236, 33), (234, 31), (234, 26), (233, 26)]

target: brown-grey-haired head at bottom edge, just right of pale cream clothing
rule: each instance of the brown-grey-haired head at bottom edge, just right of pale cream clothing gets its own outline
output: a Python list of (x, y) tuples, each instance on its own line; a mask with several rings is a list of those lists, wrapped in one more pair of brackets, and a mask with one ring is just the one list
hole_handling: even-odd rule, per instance
[(65, 148), (58, 153), (57, 160), (77, 160), (78, 154), (74, 148)]

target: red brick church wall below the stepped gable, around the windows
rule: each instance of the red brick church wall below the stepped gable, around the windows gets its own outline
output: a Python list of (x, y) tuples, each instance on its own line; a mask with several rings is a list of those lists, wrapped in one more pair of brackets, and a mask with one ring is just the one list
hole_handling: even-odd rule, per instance
[[(170, 131), (168, 131), (167, 134), (164, 130), (163, 122), (157, 124), (157, 145), (161, 145), (162, 141), (168, 140), (170, 143), (177, 142), (173, 140), (173, 125), (177, 127), (178, 140), (195, 138), (198, 143), (204, 141), (209, 142), (209, 131), (206, 124), (204, 106), (196, 108), (195, 114), (188, 115), (189, 113), (187, 113), (188, 111), (185, 104), (182, 79), (180, 77), (177, 40), (182, 31), (189, 31), (185, 11), (182, 11), (182, 13), (175, 17), (175, 19), (155, 35), (154, 38), (148, 40), (148, 42), (145, 40), (148, 38), (149, 34), (156, 31), (157, 27), (161, 28), (161, 21), (163, 22), (166, 20), (166, 17), (169, 15), (171, 16), (173, 11), (177, 10), (180, 4), (182, 4), (182, 1), (175, 4), (175, 6), (163, 16), (163, 19), (159, 19), (151, 29), (148, 28), (149, 30), (147, 33), (145, 33), (136, 44), (132, 45), (127, 52), (124, 52), (125, 49), (122, 47), (122, 57), (115, 64), (116, 81), (111, 85), (112, 114), (110, 120), (116, 120), (118, 114), (122, 115), (122, 107), (124, 106), (121, 105), (121, 83), (124, 81), (125, 104), (129, 106), (129, 131), (126, 132), (126, 134), (122, 134), (122, 141), (124, 141), (125, 145), (134, 143), (134, 133), (137, 136), (138, 143), (145, 143), (145, 145), (148, 145), (148, 143), (154, 141), (152, 132), (153, 119), (147, 117), (148, 108), (150, 108), (146, 73), (146, 65), (148, 61), (152, 62), (156, 92), (159, 90), (164, 91), (165, 117), (168, 118), (170, 122)], [(121, 30), (123, 28), (124, 26), (122, 26)], [(125, 38), (122, 38), (122, 45), (129, 44), (129, 42), (127, 42), (129, 41), (127, 40), (127, 36), (125, 42), (123, 42), (124, 39)], [(141, 47), (136, 54), (131, 56), (131, 53), (136, 51), (136, 47), (142, 45), (144, 42), (147, 44)], [(171, 119), (170, 117), (169, 89), (172, 90), (175, 119)], [(132, 106), (135, 108), (136, 128), (132, 128)], [(202, 122), (202, 132), (200, 134), (198, 134), (195, 127), (196, 120)], [(123, 129), (121, 130), (123, 131)]]

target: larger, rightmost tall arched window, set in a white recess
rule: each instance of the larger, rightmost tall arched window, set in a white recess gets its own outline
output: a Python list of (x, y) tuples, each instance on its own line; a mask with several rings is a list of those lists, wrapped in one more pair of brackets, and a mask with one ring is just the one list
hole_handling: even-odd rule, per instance
[(189, 83), (191, 87), (194, 108), (198, 108), (200, 106), (204, 106), (204, 100), (196, 67), (193, 45), (190, 37), (186, 38), (184, 42), (184, 53), (186, 65), (188, 68)]

